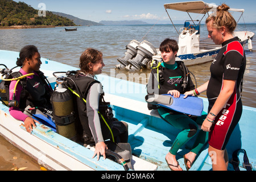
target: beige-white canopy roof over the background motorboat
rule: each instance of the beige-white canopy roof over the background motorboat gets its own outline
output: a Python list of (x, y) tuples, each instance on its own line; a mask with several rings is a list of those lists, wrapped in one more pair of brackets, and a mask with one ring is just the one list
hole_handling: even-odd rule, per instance
[[(188, 13), (197, 13), (197, 14), (205, 14), (209, 11), (214, 11), (217, 9), (217, 5), (206, 3), (204, 1), (190, 1), (190, 2), (176, 2), (176, 3), (167, 3), (164, 4), (165, 9), (177, 10), (177, 11), (185, 11)], [(237, 11), (243, 13), (243, 9), (232, 9), (229, 11)]]

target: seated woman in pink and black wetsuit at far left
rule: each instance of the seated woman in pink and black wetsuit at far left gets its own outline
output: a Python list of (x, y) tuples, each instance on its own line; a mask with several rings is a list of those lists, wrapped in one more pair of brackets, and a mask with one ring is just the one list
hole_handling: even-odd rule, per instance
[[(15, 100), (19, 102), (18, 106), (11, 106), (9, 111), (10, 114), (20, 121), (24, 122), (25, 128), (28, 132), (32, 131), (33, 127), (36, 127), (35, 122), (32, 117), (24, 114), (23, 111), (26, 106), (31, 107), (44, 107), (50, 109), (51, 102), (49, 101), (49, 89), (48, 85), (44, 84), (42, 78), (38, 75), (40, 65), (42, 64), (40, 60), (40, 53), (35, 46), (25, 46), (21, 49), (19, 53), (19, 58), (16, 61), (16, 65), (20, 68), (20, 73), (22, 75), (27, 75), (29, 73), (34, 73), (32, 76), (26, 77), (26, 87), (23, 88), (21, 84), (18, 84), (15, 92)], [(14, 87), (16, 80), (11, 81), (9, 86), (10, 101), (13, 100)]]

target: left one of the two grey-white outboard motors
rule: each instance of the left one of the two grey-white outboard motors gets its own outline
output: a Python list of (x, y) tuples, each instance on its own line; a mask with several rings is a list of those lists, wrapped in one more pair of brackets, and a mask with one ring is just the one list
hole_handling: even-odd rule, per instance
[(120, 63), (115, 66), (117, 69), (125, 69), (129, 63), (127, 60), (133, 59), (137, 55), (137, 46), (139, 42), (137, 40), (131, 40), (131, 42), (126, 46), (126, 55), (123, 58), (118, 58), (117, 61)]

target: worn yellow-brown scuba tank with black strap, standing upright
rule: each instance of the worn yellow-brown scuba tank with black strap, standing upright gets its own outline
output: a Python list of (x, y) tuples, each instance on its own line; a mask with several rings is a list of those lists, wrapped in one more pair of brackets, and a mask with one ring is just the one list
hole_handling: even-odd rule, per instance
[(57, 133), (63, 137), (76, 142), (77, 131), (75, 127), (75, 113), (73, 107), (73, 94), (63, 87), (63, 81), (56, 81), (57, 89), (52, 93), (51, 104), (53, 109), (53, 119), (55, 121)]

